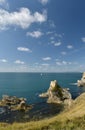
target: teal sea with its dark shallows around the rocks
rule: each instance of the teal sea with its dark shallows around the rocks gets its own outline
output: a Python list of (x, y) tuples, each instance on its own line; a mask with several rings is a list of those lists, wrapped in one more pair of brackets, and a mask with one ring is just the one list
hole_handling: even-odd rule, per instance
[[(0, 73), (0, 99), (3, 95), (24, 97), (28, 104), (33, 105), (33, 109), (28, 113), (3, 114), (0, 109), (0, 121), (27, 121), (38, 120), (42, 117), (50, 117), (59, 113), (61, 106), (47, 104), (46, 98), (40, 98), (39, 94), (46, 92), (52, 80), (57, 80), (62, 88), (69, 88), (72, 98), (75, 99), (85, 92), (85, 87), (78, 87), (77, 80), (81, 79), (82, 73)], [(16, 116), (15, 116), (16, 115)], [(19, 118), (20, 116), (24, 119)], [(20, 120), (22, 119), (22, 120)]]

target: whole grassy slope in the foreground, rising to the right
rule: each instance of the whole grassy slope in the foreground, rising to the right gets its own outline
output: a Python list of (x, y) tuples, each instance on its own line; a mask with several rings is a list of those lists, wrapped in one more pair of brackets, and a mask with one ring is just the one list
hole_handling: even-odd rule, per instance
[(85, 130), (85, 93), (58, 116), (28, 123), (0, 123), (0, 130)]

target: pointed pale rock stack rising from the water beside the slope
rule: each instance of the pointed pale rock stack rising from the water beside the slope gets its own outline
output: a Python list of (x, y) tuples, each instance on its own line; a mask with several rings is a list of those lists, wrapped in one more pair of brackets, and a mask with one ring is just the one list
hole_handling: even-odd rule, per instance
[(56, 80), (51, 81), (50, 87), (46, 93), (42, 93), (39, 97), (47, 97), (47, 103), (57, 103), (71, 105), (71, 94), (67, 89), (61, 88)]

